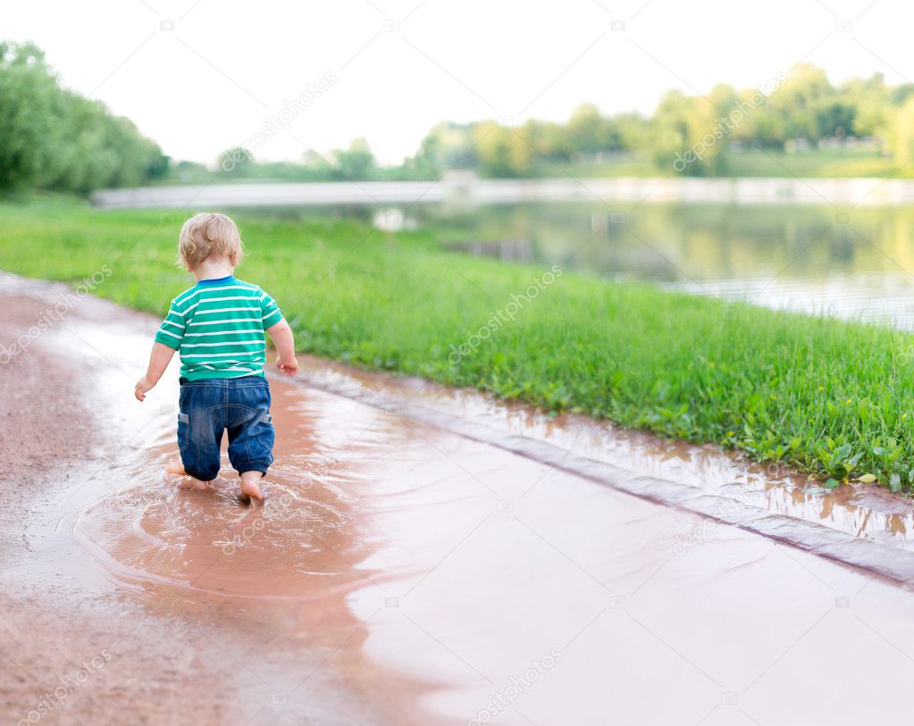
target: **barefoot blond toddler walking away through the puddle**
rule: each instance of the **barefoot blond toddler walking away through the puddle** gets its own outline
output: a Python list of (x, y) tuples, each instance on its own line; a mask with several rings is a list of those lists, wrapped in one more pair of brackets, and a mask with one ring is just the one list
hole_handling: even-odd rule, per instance
[(276, 367), (294, 375), (292, 329), (266, 292), (234, 277), (242, 247), (228, 216), (203, 212), (188, 219), (178, 255), (197, 284), (171, 301), (134, 395), (143, 401), (178, 351), (177, 443), (186, 474), (200, 486), (216, 479), (222, 432), (228, 430), (228, 459), (239, 472), (241, 494), (263, 500), (259, 482), (273, 462), (264, 332), (276, 346)]

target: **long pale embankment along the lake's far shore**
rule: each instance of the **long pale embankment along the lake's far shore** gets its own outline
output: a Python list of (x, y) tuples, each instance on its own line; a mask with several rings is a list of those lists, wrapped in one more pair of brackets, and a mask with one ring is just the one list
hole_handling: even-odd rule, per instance
[(176, 184), (109, 189), (91, 195), (101, 209), (173, 209), (189, 205), (465, 205), (525, 202), (736, 205), (914, 204), (914, 179), (859, 178), (544, 178), (441, 181)]

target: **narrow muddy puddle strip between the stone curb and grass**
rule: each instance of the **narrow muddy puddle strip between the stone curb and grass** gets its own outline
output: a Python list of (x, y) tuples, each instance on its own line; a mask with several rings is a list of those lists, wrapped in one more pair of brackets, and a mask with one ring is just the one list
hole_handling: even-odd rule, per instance
[(611, 463), (635, 476), (673, 479), (741, 503), (815, 521), (856, 537), (914, 549), (914, 500), (885, 487), (852, 482), (827, 490), (775, 464), (759, 464), (714, 446), (670, 441), (587, 416), (547, 416), (526, 405), (497, 401), (420, 379), (395, 379), (308, 359), (306, 379), (343, 395), (367, 392), (390, 402), (472, 419), (506, 434), (534, 438)]

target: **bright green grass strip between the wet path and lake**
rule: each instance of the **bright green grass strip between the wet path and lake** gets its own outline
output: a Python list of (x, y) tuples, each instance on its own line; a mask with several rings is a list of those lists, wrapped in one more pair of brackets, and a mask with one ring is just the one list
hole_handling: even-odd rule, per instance
[[(98, 212), (54, 198), (0, 204), (0, 268), (77, 282), (162, 314), (188, 286), (183, 216)], [(543, 269), (447, 253), (429, 233), (239, 216), (239, 277), (280, 302), (303, 352), (472, 386), (550, 411), (713, 441), (819, 475), (914, 481), (908, 334), (561, 275), (452, 364), (451, 346)]]

